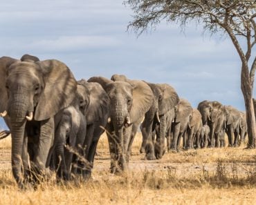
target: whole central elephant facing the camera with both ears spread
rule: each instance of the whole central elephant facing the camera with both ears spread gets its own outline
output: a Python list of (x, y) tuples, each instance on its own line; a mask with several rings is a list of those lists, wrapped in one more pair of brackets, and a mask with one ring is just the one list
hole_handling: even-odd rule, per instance
[(138, 126), (153, 101), (153, 92), (143, 81), (112, 81), (104, 77), (91, 77), (98, 82), (110, 99), (110, 112), (106, 126), (111, 155), (111, 173), (128, 168), (129, 150)]

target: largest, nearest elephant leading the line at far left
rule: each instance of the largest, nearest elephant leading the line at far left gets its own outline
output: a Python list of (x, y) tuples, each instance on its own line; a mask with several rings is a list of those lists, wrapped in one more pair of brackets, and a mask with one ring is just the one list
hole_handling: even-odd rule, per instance
[(61, 61), (0, 58), (0, 116), (12, 134), (12, 174), (20, 188), (30, 170), (46, 172), (55, 115), (71, 104), (76, 90), (71, 70)]

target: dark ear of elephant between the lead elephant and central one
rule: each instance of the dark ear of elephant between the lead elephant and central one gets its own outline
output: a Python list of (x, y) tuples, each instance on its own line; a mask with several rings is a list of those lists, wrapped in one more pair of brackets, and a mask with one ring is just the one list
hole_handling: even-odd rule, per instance
[(109, 115), (109, 96), (100, 84), (86, 81), (78, 81), (78, 84), (85, 86), (90, 92), (89, 106), (85, 110), (87, 124), (93, 124), (95, 121), (108, 117)]

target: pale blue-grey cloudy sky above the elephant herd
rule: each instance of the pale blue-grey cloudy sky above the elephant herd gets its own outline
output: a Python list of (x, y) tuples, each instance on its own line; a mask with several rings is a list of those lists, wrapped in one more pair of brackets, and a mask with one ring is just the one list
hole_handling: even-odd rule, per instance
[(167, 83), (193, 107), (208, 99), (245, 110), (241, 63), (228, 37), (166, 22), (138, 37), (127, 31), (132, 14), (120, 0), (3, 1), (0, 54), (58, 59), (76, 79), (123, 74)]

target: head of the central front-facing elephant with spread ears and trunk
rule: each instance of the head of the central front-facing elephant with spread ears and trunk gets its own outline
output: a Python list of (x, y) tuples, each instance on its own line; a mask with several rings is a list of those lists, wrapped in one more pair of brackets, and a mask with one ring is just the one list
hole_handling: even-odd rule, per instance
[(118, 144), (120, 168), (125, 169), (125, 155), (129, 139), (124, 138), (124, 128), (145, 115), (152, 101), (152, 90), (143, 81), (111, 81), (104, 77), (91, 77), (89, 82), (98, 82), (107, 92), (110, 99), (109, 124), (113, 127)]

